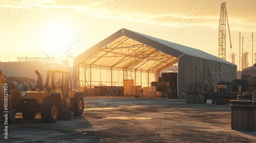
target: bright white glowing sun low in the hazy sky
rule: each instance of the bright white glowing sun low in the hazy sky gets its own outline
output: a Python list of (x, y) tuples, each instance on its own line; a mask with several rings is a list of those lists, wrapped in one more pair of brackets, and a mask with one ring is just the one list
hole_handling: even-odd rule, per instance
[(66, 26), (50, 26), (44, 31), (44, 44), (49, 50), (59, 50), (72, 42), (73, 34)]

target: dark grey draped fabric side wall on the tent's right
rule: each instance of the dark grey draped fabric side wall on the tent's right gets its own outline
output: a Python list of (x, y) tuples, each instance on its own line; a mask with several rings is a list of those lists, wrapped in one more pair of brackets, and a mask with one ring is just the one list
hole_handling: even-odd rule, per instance
[[(185, 99), (182, 92), (189, 90), (189, 83), (210, 83), (215, 85), (221, 81), (233, 81), (237, 78), (237, 65), (185, 54), (179, 58), (178, 65), (179, 99)], [(198, 87), (196, 90), (211, 90), (211, 88), (203, 89)]]

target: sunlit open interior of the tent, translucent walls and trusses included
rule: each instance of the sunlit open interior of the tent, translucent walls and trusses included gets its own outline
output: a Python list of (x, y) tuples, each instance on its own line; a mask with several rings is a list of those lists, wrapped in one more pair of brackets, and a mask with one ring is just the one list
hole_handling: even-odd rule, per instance
[(158, 81), (161, 70), (176, 63), (176, 57), (121, 36), (78, 64), (78, 87), (123, 86), (125, 79), (148, 87)]

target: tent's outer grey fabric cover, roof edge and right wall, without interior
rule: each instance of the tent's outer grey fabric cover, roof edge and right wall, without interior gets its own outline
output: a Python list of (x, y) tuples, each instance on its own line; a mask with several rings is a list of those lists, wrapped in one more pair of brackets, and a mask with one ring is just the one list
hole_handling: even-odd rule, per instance
[[(87, 64), (84, 60), (88, 56), (100, 50), (107, 44), (114, 42), (121, 36), (129, 37), (170, 56), (176, 58), (180, 57), (178, 62), (179, 96), (183, 91), (188, 91), (189, 83), (217, 84), (220, 81), (232, 81), (236, 79), (237, 65), (191, 47), (161, 40), (130, 30), (121, 29), (75, 57), (74, 60), (77, 62), (74, 61), (74, 77), (78, 78), (78, 82), (81, 77), (79, 75), (79, 65)], [(74, 87), (78, 88), (77, 82), (74, 84)]]

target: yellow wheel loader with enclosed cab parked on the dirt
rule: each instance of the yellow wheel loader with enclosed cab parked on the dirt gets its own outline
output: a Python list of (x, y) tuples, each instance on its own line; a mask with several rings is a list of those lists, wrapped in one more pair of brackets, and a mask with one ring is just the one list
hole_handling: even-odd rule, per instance
[[(38, 86), (39, 87), (39, 86)], [(33, 119), (41, 113), (42, 122), (55, 123), (58, 118), (72, 118), (83, 114), (83, 92), (72, 89), (69, 70), (47, 70), (44, 89), (19, 92), (16, 112)]]

